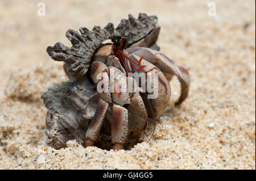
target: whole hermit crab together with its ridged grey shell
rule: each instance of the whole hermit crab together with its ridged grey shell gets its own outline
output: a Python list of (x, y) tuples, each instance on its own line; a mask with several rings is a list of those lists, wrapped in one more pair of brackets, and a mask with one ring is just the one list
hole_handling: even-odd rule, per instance
[[(175, 104), (182, 103), (188, 96), (189, 73), (159, 52), (159, 31), (156, 16), (141, 13), (138, 19), (132, 15), (122, 19), (117, 28), (112, 23), (92, 31), (80, 28), (81, 35), (68, 30), (71, 48), (61, 43), (48, 47), (53, 60), (64, 62), (69, 81), (42, 95), (48, 111), (39, 143), (60, 149), (75, 139), (84, 147), (92, 146), (105, 129), (112, 148), (122, 149), (130, 136), (141, 135), (148, 119), (162, 115), (174, 75), (181, 85)], [(156, 95), (150, 96), (152, 92)]]

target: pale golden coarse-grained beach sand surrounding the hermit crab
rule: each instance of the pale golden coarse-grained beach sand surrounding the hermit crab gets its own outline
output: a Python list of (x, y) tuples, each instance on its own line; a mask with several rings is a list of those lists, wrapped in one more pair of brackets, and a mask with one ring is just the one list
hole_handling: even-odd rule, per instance
[[(255, 169), (255, 1), (0, 2), (0, 169)], [(191, 74), (179, 107), (177, 81), (157, 120), (130, 150), (84, 149), (76, 141), (55, 150), (38, 145), (47, 109), (40, 95), (66, 81), (61, 62), (46, 53), (71, 45), (68, 28), (115, 26), (129, 13), (157, 15), (161, 52)]]

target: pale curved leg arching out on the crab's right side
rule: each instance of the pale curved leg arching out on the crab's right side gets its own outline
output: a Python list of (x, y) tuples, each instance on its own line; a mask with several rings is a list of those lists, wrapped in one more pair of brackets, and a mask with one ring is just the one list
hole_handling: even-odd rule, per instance
[(176, 75), (181, 85), (181, 93), (175, 105), (182, 103), (187, 98), (190, 85), (190, 75), (186, 69), (182, 66), (176, 65), (174, 60), (171, 60), (164, 54), (150, 48), (128, 48), (126, 49), (126, 52), (129, 54), (135, 54), (138, 57), (143, 56), (144, 60), (147, 60), (159, 68), (164, 73), (168, 81), (171, 81), (173, 75)]

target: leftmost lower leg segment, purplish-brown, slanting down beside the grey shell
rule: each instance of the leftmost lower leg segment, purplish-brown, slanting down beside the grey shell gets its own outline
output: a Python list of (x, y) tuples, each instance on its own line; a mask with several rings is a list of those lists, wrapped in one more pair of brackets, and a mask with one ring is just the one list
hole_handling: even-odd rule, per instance
[(93, 116), (92, 122), (86, 132), (86, 140), (84, 147), (92, 146), (94, 141), (97, 140), (98, 134), (101, 131), (101, 126), (105, 118), (106, 111), (108, 110), (109, 104), (105, 100), (101, 99), (98, 102), (96, 112)]

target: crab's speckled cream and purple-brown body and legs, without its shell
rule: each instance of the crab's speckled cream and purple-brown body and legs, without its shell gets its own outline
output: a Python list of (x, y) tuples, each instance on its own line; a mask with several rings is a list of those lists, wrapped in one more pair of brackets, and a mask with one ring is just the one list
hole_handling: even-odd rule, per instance
[[(122, 43), (122, 39), (119, 44), (120, 42)], [(113, 149), (121, 149), (130, 134), (138, 137), (146, 129), (148, 117), (158, 118), (166, 109), (171, 96), (169, 81), (173, 75), (177, 75), (181, 79), (181, 83), (185, 82), (185, 85), (181, 85), (183, 88), (181, 91), (183, 92), (177, 104), (181, 103), (188, 94), (188, 71), (181, 66), (177, 66), (173, 60), (170, 60), (162, 53), (150, 48), (139, 47), (128, 48), (123, 50), (123, 56), (115, 56), (117, 51), (114, 53), (113, 49), (114, 45), (101, 47), (94, 55), (94, 61), (90, 64), (90, 76), (93, 82), (97, 84), (97, 87), (102, 89), (105, 87), (105, 90), (100, 92), (96, 113), (86, 132), (85, 147), (93, 145), (94, 141), (97, 140), (105, 117), (112, 125)], [(134, 65), (131, 66), (133, 63), (141, 66), (141, 69)], [(110, 80), (111, 70), (114, 73), (114, 81)], [(164, 71), (169, 80), (162, 71)], [(136, 75), (138, 73), (146, 74), (146, 77), (149, 76), (147, 83), (153, 88), (154, 77), (152, 74), (156, 73), (156, 78), (158, 79), (157, 85), (155, 85), (158, 90), (157, 96), (153, 99), (147, 99), (146, 95), (149, 92), (146, 91), (143, 99), (138, 89), (138, 87), (142, 86), (142, 80), (141, 82), (138, 79), (135, 81), (133, 77), (129, 77), (129, 73), (137, 73)], [(98, 75), (100, 74), (101, 76), (99, 77)], [(106, 85), (100, 85), (102, 79), (105, 79)], [(133, 91), (131, 92), (128, 91), (129, 79), (133, 86)], [(121, 91), (119, 92), (115, 90), (117, 85), (118, 87), (121, 86)], [(114, 88), (113, 92), (110, 91), (112, 88)]]

